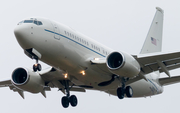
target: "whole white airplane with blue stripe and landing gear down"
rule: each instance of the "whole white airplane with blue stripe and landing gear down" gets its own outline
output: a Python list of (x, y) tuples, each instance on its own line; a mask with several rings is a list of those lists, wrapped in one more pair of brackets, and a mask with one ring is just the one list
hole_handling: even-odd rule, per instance
[[(163, 92), (163, 86), (180, 82), (170, 70), (180, 67), (180, 52), (162, 53), (164, 11), (156, 13), (141, 52), (131, 55), (113, 50), (69, 26), (45, 18), (27, 18), (14, 29), (24, 53), (35, 60), (32, 68), (18, 67), (11, 79), (0, 81), (24, 98), (24, 92), (41, 93), (57, 88), (65, 96), (64, 108), (76, 107), (71, 91), (98, 90), (119, 99), (147, 97)], [(42, 69), (39, 61), (49, 65)], [(160, 77), (161, 73), (168, 75)]]

